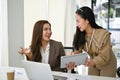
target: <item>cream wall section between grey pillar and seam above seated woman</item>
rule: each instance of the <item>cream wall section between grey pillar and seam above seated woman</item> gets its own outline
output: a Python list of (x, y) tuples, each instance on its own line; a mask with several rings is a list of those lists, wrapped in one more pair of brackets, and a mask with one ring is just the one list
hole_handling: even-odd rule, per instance
[(48, 19), (47, 0), (24, 0), (24, 47), (29, 47), (36, 21)]

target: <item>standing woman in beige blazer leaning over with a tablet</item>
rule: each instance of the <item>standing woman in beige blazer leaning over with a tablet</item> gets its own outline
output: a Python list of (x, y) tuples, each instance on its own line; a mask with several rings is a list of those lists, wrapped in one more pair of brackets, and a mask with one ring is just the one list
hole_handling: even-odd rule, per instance
[[(110, 42), (111, 33), (98, 26), (92, 9), (83, 6), (76, 11), (76, 33), (73, 40), (75, 51), (83, 50), (90, 56), (86, 59), (88, 74), (96, 76), (116, 77), (116, 57)], [(67, 65), (68, 69), (73, 66)]]

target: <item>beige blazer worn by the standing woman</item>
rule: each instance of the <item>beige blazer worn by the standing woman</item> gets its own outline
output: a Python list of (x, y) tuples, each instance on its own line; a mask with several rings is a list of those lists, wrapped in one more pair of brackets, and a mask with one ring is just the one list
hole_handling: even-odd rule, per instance
[[(90, 37), (87, 37), (89, 44)], [(86, 45), (84, 46), (86, 50)], [(93, 35), (92, 44), (88, 51), (91, 60), (96, 64), (96, 68), (99, 70), (116, 71), (116, 57), (112, 51), (112, 45), (110, 42), (110, 33), (105, 29), (95, 29)], [(108, 72), (109, 73), (109, 72)]]

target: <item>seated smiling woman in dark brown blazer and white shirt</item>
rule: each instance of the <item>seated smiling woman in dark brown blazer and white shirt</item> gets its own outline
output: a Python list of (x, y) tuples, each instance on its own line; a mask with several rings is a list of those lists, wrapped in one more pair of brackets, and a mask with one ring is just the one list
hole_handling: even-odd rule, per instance
[(30, 49), (21, 48), (19, 53), (25, 54), (28, 60), (48, 63), (53, 71), (66, 71), (60, 68), (61, 56), (65, 56), (61, 42), (50, 39), (51, 24), (47, 20), (35, 23)]

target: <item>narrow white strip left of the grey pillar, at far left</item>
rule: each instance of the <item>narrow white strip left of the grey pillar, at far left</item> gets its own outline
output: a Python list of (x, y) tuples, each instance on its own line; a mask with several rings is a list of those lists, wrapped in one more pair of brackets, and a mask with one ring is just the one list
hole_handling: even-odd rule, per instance
[(8, 66), (7, 0), (0, 0), (0, 66)]

